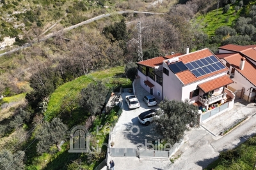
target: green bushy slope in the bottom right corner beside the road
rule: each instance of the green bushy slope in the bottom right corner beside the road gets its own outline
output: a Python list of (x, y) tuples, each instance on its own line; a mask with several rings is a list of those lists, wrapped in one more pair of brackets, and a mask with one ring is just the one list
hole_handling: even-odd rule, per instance
[(256, 136), (248, 139), (233, 150), (220, 153), (218, 160), (212, 162), (206, 169), (253, 169), (256, 162)]

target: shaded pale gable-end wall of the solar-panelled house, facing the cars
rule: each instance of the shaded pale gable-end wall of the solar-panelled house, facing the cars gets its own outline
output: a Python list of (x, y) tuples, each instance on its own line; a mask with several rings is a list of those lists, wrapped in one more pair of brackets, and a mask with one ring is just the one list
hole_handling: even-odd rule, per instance
[(167, 97), (169, 100), (181, 100), (183, 84), (175, 74), (169, 69), (167, 64), (163, 62), (163, 67), (169, 70), (169, 76), (163, 73), (163, 99)]

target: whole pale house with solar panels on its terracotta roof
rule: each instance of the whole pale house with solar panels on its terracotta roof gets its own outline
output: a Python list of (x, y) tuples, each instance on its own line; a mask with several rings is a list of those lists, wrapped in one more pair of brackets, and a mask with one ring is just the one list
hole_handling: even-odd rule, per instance
[(235, 96), (225, 88), (234, 81), (227, 76), (228, 68), (208, 48), (137, 64), (144, 89), (162, 100), (164, 97), (178, 101), (189, 99), (205, 111), (201, 121), (234, 106)]

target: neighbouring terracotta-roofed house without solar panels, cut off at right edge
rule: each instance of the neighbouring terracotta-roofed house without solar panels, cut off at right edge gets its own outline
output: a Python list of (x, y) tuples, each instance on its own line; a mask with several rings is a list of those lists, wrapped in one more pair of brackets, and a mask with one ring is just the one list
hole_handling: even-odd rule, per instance
[(256, 45), (225, 45), (216, 56), (228, 67), (234, 83), (228, 89), (246, 101), (255, 101), (256, 96)]

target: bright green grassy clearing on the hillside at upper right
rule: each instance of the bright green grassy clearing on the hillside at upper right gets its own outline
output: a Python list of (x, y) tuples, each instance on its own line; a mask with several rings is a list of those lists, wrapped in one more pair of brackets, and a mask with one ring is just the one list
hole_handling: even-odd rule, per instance
[[(240, 10), (241, 11), (241, 10)], [(223, 13), (222, 8), (219, 10), (213, 10), (205, 15), (196, 17), (196, 23), (200, 24), (200, 29), (209, 36), (213, 36), (218, 27), (227, 25), (231, 27), (234, 25), (234, 21), (239, 18), (240, 11), (234, 10), (234, 6), (230, 6), (228, 13)]]

